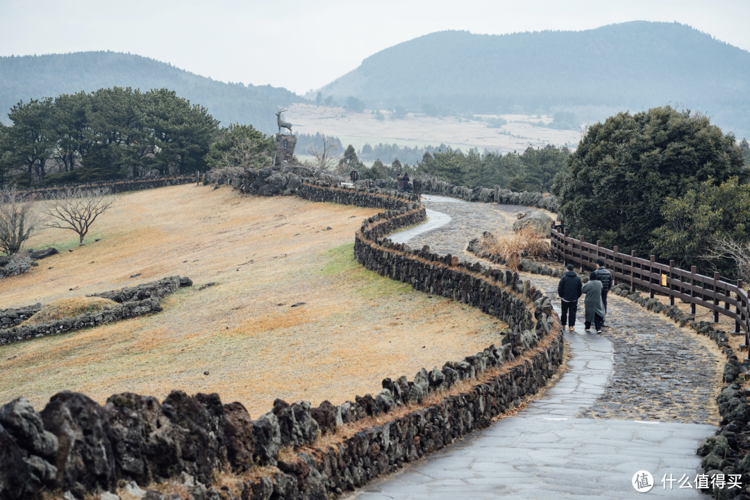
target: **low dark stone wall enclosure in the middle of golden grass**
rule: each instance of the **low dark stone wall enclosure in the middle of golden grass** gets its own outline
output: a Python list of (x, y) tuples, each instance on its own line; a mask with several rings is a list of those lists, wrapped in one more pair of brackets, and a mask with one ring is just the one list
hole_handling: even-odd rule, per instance
[(37, 313), (42, 308), (41, 304), (20, 309), (0, 310), (0, 327), (2, 328), (0, 345), (47, 335), (65, 334), (69, 331), (91, 328), (121, 319), (158, 313), (161, 310), (160, 298), (181, 286), (192, 286), (192, 284), (193, 282), (188, 277), (172, 276), (139, 286), (89, 295), (89, 297), (109, 298), (121, 305), (74, 318), (58, 319), (36, 325), (22, 326), (20, 323)]

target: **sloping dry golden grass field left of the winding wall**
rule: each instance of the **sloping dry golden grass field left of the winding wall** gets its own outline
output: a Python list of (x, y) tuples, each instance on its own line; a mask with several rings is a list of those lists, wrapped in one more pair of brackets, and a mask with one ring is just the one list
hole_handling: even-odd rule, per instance
[[(152, 316), (0, 346), (0, 402), (25, 396), (41, 409), (64, 389), (100, 403), (181, 389), (257, 417), (277, 397), (338, 404), (496, 343), (502, 325), (490, 316), (356, 263), (354, 232), (376, 212), (184, 185), (119, 195), (84, 247), (73, 232), (35, 236), (29, 246), (62, 253), (1, 280), (0, 308), (173, 274), (194, 285)], [(220, 284), (198, 290), (209, 282)]]

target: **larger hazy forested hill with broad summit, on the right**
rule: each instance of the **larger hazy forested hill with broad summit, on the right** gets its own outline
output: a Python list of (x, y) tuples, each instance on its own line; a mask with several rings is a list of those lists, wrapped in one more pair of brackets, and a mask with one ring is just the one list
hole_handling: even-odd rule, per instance
[[(368, 106), (459, 112), (685, 106), (750, 136), (750, 52), (687, 25), (634, 21), (587, 31), (440, 31), (377, 52), (322, 89)], [(601, 118), (605, 118), (601, 117)]]

